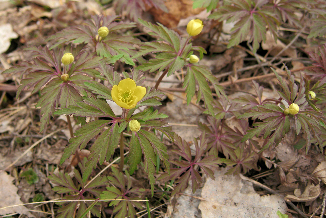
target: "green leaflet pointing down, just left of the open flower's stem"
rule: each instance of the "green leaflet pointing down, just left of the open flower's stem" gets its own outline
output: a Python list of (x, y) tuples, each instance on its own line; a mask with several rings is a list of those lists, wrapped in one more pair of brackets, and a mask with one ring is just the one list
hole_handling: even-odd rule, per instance
[(91, 146), (91, 153), (88, 156), (88, 161), (85, 164), (86, 169), (83, 173), (83, 182), (85, 182), (88, 176), (92, 173), (92, 168), (96, 168), (97, 162), (102, 165), (104, 160), (109, 161), (115, 148), (118, 147), (119, 142), (119, 125), (117, 123), (113, 123), (111, 127), (97, 137), (94, 144)]

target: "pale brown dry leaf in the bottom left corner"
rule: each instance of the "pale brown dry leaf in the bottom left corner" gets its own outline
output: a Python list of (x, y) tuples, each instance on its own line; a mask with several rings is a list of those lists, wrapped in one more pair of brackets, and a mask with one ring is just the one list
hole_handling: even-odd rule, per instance
[[(18, 188), (12, 184), (14, 178), (8, 175), (5, 171), (0, 170), (0, 208), (23, 204), (20, 196), (17, 195)], [(17, 206), (0, 210), (0, 215), (7, 215), (10, 213), (25, 214), (28, 217), (34, 217), (25, 206)]]

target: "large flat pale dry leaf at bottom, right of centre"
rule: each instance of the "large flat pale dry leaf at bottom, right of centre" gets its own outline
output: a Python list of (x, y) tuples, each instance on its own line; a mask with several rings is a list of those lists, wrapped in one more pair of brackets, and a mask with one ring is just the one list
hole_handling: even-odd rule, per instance
[(202, 218), (269, 218), (276, 211), (287, 209), (282, 197), (277, 195), (259, 196), (251, 182), (242, 180), (239, 175), (224, 175), (228, 168), (215, 171), (215, 180), (207, 179), (199, 209)]

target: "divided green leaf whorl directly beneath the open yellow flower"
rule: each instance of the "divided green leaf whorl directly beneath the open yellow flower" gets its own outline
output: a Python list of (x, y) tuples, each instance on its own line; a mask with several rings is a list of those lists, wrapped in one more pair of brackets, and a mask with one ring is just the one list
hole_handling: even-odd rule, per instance
[[(133, 77), (138, 78), (139, 81), (143, 81), (142, 75), (138, 71), (132, 71)], [(114, 72), (109, 71), (108, 78), (113, 78)], [(131, 79), (127, 78), (127, 81)], [(112, 80), (113, 81), (113, 80)], [(135, 83), (135, 82), (133, 82)], [(115, 149), (119, 145), (121, 132), (127, 127), (127, 122), (136, 119), (141, 124), (141, 130), (139, 132), (132, 132), (132, 138), (129, 143), (130, 152), (128, 154), (130, 164), (129, 172), (132, 174), (137, 169), (137, 164), (141, 162), (142, 154), (144, 154), (144, 168), (148, 173), (152, 192), (154, 189), (154, 173), (156, 166), (156, 156), (158, 156), (163, 165), (169, 170), (168, 154), (166, 146), (159, 140), (159, 138), (153, 133), (145, 130), (146, 128), (152, 128), (167, 135), (171, 141), (172, 127), (168, 125), (165, 120), (167, 116), (158, 113), (158, 111), (150, 111), (149, 109), (132, 115), (136, 108), (141, 106), (155, 106), (160, 105), (158, 101), (162, 93), (155, 89), (149, 89), (147, 87), (145, 96), (137, 103), (137, 105), (130, 109), (126, 114), (126, 117), (116, 117), (111, 110), (106, 100), (101, 99), (112, 99), (110, 94), (112, 91), (106, 86), (100, 85), (98, 82), (93, 81), (92, 83), (85, 83), (87, 87), (94, 90), (98, 95), (98, 98), (82, 97), (83, 101), (76, 102), (75, 105), (70, 105), (68, 108), (63, 108), (55, 114), (57, 115), (73, 115), (76, 117), (107, 117), (109, 120), (93, 120), (87, 124), (82, 125), (80, 129), (74, 134), (75, 137), (69, 140), (69, 146), (65, 148), (64, 154), (60, 163), (63, 163), (71, 154), (74, 154), (78, 148), (83, 149), (85, 146), (94, 138), (95, 141), (90, 147), (90, 155), (88, 161), (85, 164), (85, 170), (83, 172), (83, 181), (85, 181), (91, 174), (92, 169), (96, 168), (97, 163), (103, 164), (103, 162), (109, 161)], [(135, 84), (133, 84), (135, 85)], [(141, 85), (141, 84), (140, 84)], [(143, 87), (143, 89), (145, 89)]]

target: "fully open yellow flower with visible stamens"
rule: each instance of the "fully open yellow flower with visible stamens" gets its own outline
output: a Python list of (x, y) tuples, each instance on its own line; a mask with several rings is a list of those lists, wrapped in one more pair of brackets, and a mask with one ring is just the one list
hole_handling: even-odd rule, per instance
[(146, 88), (143, 86), (136, 86), (132, 79), (121, 80), (117, 85), (114, 85), (111, 90), (113, 101), (120, 107), (131, 109), (136, 107), (146, 94)]

